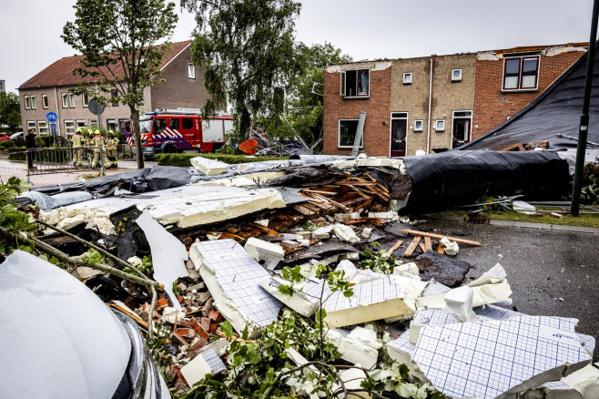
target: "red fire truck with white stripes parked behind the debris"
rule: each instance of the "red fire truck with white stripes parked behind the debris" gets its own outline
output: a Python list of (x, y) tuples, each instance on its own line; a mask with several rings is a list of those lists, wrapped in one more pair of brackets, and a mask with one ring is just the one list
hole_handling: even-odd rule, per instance
[[(202, 120), (199, 109), (158, 109), (139, 118), (139, 133), (144, 158), (157, 153), (212, 152), (225, 144), (225, 134), (233, 128), (231, 114)], [(127, 120), (124, 135), (134, 148), (135, 136)]]

